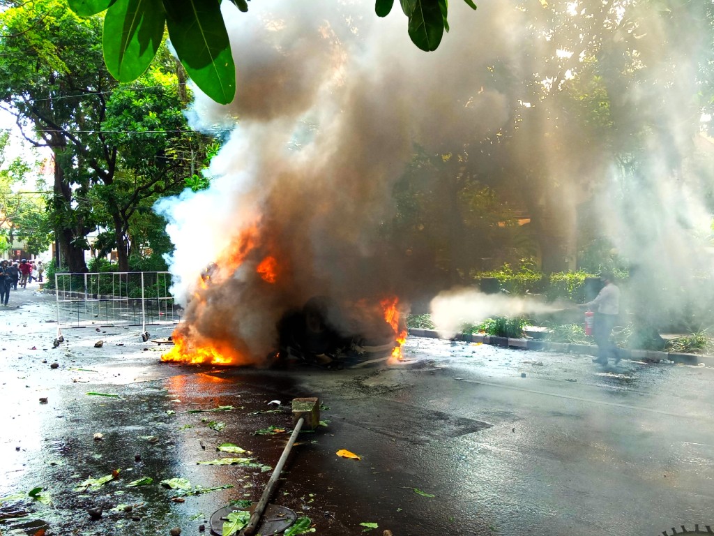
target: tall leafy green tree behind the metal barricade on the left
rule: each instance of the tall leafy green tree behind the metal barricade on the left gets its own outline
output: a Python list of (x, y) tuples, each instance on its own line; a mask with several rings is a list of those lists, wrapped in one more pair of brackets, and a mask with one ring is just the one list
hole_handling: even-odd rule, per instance
[(206, 137), (188, 130), (183, 88), (169, 72), (176, 64), (161, 49), (141, 79), (119, 84), (101, 60), (101, 19), (81, 19), (59, 0), (7, 9), (0, 21), (0, 101), (29, 142), (54, 152), (50, 213), (64, 261), (86, 271), (86, 235), (104, 227), (128, 271), (134, 214), (179, 192), (203, 159)]

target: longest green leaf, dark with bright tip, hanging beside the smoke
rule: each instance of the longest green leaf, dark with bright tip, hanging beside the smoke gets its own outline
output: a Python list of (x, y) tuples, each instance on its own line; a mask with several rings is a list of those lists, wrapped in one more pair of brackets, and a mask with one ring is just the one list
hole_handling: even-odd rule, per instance
[(164, 0), (171, 44), (188, 76), (219, 104), (236, 95), (236, 66), (218, 0)]

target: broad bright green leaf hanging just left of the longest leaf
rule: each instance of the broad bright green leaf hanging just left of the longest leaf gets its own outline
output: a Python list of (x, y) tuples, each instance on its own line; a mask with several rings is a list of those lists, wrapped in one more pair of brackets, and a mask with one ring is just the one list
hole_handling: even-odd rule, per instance
[(164, 37), (166, 13), (161, 0), (116, 0), (104, 17), (104, 61), (119, 81), (146, 71)]

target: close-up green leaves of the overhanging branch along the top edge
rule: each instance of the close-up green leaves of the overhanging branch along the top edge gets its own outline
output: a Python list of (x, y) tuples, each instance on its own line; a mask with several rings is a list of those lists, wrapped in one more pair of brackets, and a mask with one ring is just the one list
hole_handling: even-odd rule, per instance
[[(231, 0), (248, 11), (246, 0)], [(473, 0), (464, 0), (476, 9)], [(220, 0), (68, 0), (79, 16), (106, 10), (104, 61), (114, 78), (128, 82), (146, 71), (169, 30), (171, 44), (186, 72), (219, 104), (236, 94), (236, 66), (221, 14)], [(387, 16), (394, 0), (376, 0), (378, 16)], [(448, 31), (448, 0), (400, 0), (408, 34), (423, 51), (434, 51)]]

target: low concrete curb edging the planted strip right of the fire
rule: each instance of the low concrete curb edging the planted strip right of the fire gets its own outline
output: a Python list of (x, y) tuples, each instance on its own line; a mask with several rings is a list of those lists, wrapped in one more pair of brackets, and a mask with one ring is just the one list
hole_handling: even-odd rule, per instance
[[(441, 337), (436, 329), (409, 328), (408, 334), (412, 337), (426, 337), (428, 339), (445, 339)], [(598, 355), (598, 347), (595, 344), (567, 344), (563, 342), (550, 342), (539, 339), (511, 339), (510, 337), (493, 337), (491, 335), (473, 335), (470, 333), (459, 333), (451, 340), (463, 342), (476, 342), (491, 344), (502, 348), (520, 348), (527, 350), (540, 350), (542, 352), (558, 352), (560, 354), (583, 354)], [(663, 361), (673, 361), (683, 364), (705, 363), (714, 366), (714, 356), (703, 354), (680, 354), (677, 352), (657, 352), (655, 350), (638, 350), (620, 348), (620, 359), (635, 359), (636, 361), (648, 361), (659, 363)]]

